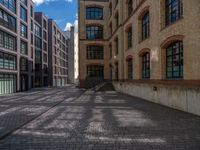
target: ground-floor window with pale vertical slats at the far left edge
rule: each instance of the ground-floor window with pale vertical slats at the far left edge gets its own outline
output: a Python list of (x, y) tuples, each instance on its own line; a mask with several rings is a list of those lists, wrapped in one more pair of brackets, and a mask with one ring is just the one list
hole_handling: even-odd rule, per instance
[(16, 91), (17, 91), (16, 75), (0, 73), (0, 95), (10, 94)]

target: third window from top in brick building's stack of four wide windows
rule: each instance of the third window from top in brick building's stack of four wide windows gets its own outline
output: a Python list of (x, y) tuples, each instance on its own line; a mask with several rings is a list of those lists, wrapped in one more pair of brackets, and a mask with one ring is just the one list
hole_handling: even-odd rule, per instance
[(87, 59), (103, 59), (104, 51), (103, 46), (88, 46)]

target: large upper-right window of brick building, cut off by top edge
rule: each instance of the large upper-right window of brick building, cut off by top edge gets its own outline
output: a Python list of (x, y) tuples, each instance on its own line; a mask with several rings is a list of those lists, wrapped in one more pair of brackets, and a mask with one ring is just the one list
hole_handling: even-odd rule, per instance
[(170, 25), (183, 15), (182, 0), (165, 0), (165, 24)]

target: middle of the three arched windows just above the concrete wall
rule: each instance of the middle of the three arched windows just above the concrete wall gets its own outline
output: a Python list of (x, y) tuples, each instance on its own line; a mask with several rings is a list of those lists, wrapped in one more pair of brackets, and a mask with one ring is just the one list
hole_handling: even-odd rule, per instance
[(145, 53), (142, 56), (142, 78), (150, 78), (150, 53)]

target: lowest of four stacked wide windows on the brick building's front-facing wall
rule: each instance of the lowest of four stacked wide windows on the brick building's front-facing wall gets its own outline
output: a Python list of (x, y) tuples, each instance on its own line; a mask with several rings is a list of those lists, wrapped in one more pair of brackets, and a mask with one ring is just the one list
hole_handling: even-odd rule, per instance
[(104, 67), (99, 65), (87, 66), (88, 77), (104, 77)]

